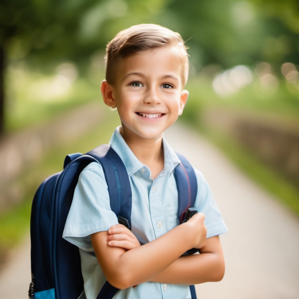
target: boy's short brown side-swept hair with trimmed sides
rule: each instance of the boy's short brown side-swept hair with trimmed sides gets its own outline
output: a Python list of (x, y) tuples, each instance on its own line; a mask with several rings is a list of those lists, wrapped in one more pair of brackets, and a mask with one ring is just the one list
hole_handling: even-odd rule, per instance
[(106, 47), (106, 80), (115, 84), (118, 62), (130, 55), (163, 46), (178, 46), (182, 65), (182, 83), (186, 85), (189, 73), (187, 47), (181, 35), (155, 24), (140, 24), (120, 31)]

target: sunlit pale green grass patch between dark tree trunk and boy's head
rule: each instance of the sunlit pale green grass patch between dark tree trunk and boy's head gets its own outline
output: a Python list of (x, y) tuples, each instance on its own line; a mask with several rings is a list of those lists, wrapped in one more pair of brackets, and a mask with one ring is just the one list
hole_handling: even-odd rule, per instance
[(12, 63), (5, 72), (6, 132), (46, 122), (87, 102), (100, 101), (102, 70), (97, 77), (91, 81), (86, 75), (69, 82), (55, 71), (43, 74), (30, 69), (25, 62)]

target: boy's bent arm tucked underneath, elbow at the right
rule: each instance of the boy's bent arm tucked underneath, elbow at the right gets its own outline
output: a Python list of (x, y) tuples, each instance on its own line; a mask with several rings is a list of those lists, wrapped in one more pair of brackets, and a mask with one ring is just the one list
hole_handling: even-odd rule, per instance
[(198, 284), (220, 281), (225, 271), (224, 257), (219, 236), (210, 237), (200, 254), (179, 257), (167, 269), (151, 279), (169, 284)]

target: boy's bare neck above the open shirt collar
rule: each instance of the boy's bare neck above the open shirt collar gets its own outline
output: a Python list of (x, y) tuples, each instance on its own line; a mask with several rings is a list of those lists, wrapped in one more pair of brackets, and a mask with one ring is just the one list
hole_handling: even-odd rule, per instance
[(155, 139), (136, 138), (131, 134), (126, 134), (120, 128), (120, 134), (126, 141), (126, 144), (132, 150), (136, 158), (144, 165), (149, 167), (152, 179), (155, 179), (159, 173), (164, 169), (164, 150), (162, 137)]

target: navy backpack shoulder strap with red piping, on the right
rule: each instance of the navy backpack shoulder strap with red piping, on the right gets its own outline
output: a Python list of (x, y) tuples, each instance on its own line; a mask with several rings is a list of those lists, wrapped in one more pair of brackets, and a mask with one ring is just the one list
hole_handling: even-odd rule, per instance
[(188, 208), (195, 204), (197, 195), (197, 179), (190, 162), (181, 154), (176, 153), (181, 163), (176, 166), (174, 177), (179, 196), (178, 219), (182, 223)]

